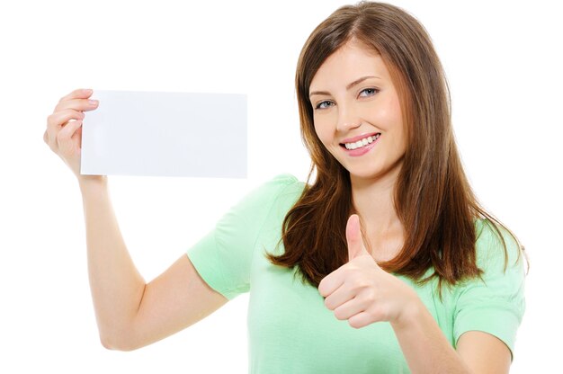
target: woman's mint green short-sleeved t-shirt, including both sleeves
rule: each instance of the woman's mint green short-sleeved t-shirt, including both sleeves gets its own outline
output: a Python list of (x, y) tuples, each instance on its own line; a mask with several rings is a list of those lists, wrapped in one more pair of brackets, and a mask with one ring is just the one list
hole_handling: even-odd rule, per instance
[[(212, 289), (228, 299), (250, 292), (248, 305), (249, 372), (259, 374), (408, 373), (407, 361), (388, 322), (360, 329), (336, 319), (318, 289), (303, 284), (293, 270), (275, 266), (264, 251), (280, 254), (281, 223), (305, 184), (282, 174), (249, 193), (219, 220), (215, 229), (187, 251), (195, 269)], [(487, 226), (478, 236), (478, 266), (483, 279), (436, 292), (437, 280), (416, 286), (455, 348), (461, 334), (478, 330), (495, 335), (514, 352), (524, 312), (523, 256), (505, 236), (509, 262)], [(432, 269), (428, 271), (431, 273)]]

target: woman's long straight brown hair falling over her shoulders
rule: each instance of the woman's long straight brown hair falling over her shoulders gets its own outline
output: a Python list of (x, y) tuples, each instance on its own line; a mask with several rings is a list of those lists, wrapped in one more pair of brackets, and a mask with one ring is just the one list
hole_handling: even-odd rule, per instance
[[(437, 276), (440, 294), (442, 281), (455, 285), (480, 277), (475, 247), (478, 218), (486, 218), (501, 239), (506, 266), (506, 245), (499, 230), (504, 225), (481, 207), (463, 172), (451, 128), (448, 85), (430, 37), (400, 8), (371, 2), (336, 10), (301, 50), (295, 85), (301, 136), (312, 163), (308, 184), (283, 221), (285, 253), (266, 254), (267, 258), (276, 265), (299, 266), (302, 280), (314, 287), (348, 262), (344, 231), (354, 211), (350, 174), (317, 137), (308, 90), (326, 58), (352, 39), (383, 58), (398, 87), (407, 127), (407, 151), (394, 196), (405, 243), (394, 259), (379, 263), (381, 268), (420, 284)], [(431, 267), (433, 274), (420, 280)]]

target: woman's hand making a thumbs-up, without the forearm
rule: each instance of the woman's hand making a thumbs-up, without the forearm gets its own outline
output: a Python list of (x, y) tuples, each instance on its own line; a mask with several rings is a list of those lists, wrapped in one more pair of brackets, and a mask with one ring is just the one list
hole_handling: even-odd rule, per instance
[(403, 322), (411, 306), (421, 301), (414, 289), (385, 272), (371, 257), (363, 244), (360, 218), (355, 214), (348, 218), (346, 241), (348, 263), (318, 285), (325, 306), (354, 328), (380, 321)]

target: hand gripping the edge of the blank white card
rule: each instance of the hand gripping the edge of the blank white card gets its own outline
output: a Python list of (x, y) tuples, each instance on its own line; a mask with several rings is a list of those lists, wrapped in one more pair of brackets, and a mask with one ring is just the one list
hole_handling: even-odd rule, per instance
[(47, 118), (43, 140), (70, 167), (80, 179), (80, 151), (82, 148), (82, 121), (85, 111), (94, 111), (97, 100), (88, 100), (93, 91), (79, 89), (60, 99)]

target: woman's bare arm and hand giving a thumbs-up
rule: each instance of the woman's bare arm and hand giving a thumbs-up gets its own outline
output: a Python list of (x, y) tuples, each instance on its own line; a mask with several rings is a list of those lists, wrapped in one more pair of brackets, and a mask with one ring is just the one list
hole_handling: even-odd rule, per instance
[[(348, 219), (346, 240), (349, 262), (318, 285), (336, 318), (347, 319), (354, 328), (389, 321), (413, 373), (508, 372), (510, 351), (492, 334), (468, 328), (460, 336), (458, 352), (454, 351), (416, 291), (383, 271), (367, 252), (355, 215)], [(469, 299), (465, 302), (475, 302)]]

